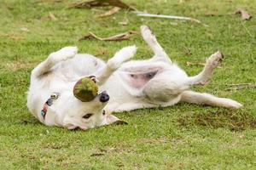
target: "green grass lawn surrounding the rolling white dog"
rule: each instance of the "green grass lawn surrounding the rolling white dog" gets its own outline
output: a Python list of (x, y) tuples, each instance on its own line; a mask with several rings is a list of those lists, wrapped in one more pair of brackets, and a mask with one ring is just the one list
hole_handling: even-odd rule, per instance
[[(106, 8), (67, 8), (71, 1), (1, 0), (0, 2), (0, 169), (255, 169), (256, 90), (226, 90), (226, 84), (256, 82), (255, 0), (125, 0), (152, 14), (194, 17), (208, 26), (180, 20), (137, 17), (120, 11), (107, 18)], [(253, 18), (234, 14), (245, 8)], [(49, 19), (49, 12), (57, 20)], [(119, 22), (129, 20), (127, 26)], [(211, 82), (194, 90), (236, 99), (238, 111), (178, 104), (167, 108), (117, 113), (127, 126), (88, 131), (46, 127), (26, 109), (30, 73), (49, 53), (78, 46), (80, 53), (108, 59), (136, 44), (136, 59), (152, 52), (139, 36), (128, 41), (78, 41), (93, 31), (100, 37), (154, 31), (160, 44), (189, 75), (220, 49), (224, 62)]]

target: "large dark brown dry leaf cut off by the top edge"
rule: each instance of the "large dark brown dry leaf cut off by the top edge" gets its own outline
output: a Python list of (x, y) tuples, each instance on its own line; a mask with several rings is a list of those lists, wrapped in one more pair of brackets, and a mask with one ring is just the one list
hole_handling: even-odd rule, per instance
[(131, 6), (127, 5), (126, 3), (123, 3), (120, 0), (92, 0), (82, 3), (73, 3), (69, 6), (69, 8), (94, 8), (105, 6), (113, 6), (130, 10), (136, 10), (136, 8), (132, 8)]

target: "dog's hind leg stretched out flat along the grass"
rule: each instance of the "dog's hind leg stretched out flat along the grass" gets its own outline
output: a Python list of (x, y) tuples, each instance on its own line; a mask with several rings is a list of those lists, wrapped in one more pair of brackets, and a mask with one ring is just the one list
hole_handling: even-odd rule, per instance
[(181, 94), (181, 100), (183, 102), (197, 104), (197, 105), (212, 105), (212, 106), (221, 106), (227, 108), (238, 109), (242, 105), (235, 100), (218, 98), (212, 94), (201, 94), (193, 91), (184, 91)]

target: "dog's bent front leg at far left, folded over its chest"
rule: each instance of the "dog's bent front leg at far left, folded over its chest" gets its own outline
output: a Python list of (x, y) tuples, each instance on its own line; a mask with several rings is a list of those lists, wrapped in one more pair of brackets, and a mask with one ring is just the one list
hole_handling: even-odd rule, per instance
[(32, 71), (32, 77), (40, 77), (48, 72), (54, 65), (62, 60), (71, 59), (78, 53), (77, 47), (61, 48), (59, 51), (49, 54), (49, 57), (40, 63)]

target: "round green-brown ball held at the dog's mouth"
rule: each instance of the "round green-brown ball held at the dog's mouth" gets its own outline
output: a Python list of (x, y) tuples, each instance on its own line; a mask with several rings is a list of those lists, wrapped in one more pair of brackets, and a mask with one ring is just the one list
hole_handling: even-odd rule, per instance
[(96, 82), (91, 80), (90, 77), (81, 78), (73, 88), (73, 95), (83, 102), (95, 99), (97, 94), (98, 87)]

